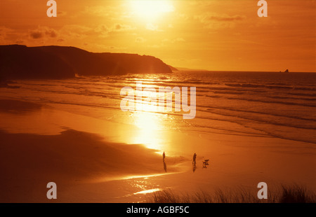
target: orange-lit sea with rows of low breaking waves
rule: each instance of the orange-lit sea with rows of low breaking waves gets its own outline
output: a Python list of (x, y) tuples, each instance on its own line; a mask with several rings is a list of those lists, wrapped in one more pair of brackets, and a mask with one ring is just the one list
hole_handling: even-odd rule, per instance
[[(123, 87), (196, 87), (196, 115), (183, 119), (164, 111), (164, 127), (181, 132), (277, 137), (316, 144), (316, 73), (249, 71), (174, 71), (164, 74), (77, 76), (66, 80), (12, 80), (0, 88), (0, 97), (67, 108), (76, 113), (125, 123), (121, 111)], [(189, 92), (190, 94), (190, 92)], [(69, 108), (69, 107), (68, 107)], [(79, 108), (79, 107), (77, 107)], [(115, 116), (94, 111), (112, 110)], [(151, 112), (152, 111), (148, 111)], [(119, 117), (121, 116), (121, 117)], [(145, 122), (146, 124), (146, 122)]]

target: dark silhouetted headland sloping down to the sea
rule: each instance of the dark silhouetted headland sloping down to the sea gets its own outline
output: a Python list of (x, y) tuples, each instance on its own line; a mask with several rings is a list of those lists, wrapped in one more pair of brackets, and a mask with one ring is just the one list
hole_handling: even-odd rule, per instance
[(62, 46), (0, 45), (2, 80), (171, 72), (161, 59), (147, 55), (95, 53)]

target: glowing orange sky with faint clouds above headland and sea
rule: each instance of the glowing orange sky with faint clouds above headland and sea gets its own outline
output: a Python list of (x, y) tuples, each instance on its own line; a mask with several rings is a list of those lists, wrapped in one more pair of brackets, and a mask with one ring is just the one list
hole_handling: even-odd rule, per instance
[[(72, 45), (153, 55), (172, 66), (233, 71), (316, 71), (316, 1), (1, 0), (0, 44)], [(142, 3), (143, 1), (143, 3)]]

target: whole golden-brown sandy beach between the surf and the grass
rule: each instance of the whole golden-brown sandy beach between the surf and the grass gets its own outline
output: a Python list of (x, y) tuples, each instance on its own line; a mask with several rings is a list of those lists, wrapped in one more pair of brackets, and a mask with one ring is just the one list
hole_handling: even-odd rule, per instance
[[(152, 149), (132, 143), (143, 132), (132, 125), (30, 102), (2, 99), (0, 105), (0, 202), (145, 202), (145, 193), (155, 190), (256, 190), (261, 181), (316, 190), (314, 144), (154, 130), (149, 136), (159, 145)], [(58, 200), (46, 197), (51, 181)]]

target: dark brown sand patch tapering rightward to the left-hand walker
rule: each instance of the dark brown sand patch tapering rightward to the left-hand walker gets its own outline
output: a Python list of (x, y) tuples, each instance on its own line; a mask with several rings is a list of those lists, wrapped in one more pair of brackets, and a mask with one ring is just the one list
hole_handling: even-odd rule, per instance
[[(141, 145), (112, 144), (94, 134), (0, 132), (0, 202), (47, 202), (46, 184), (62, 192), (93, 179), (165, 173), (162, 156)], [(179, 162), (169, 158), (168, 170)]]

